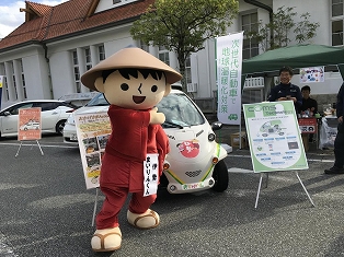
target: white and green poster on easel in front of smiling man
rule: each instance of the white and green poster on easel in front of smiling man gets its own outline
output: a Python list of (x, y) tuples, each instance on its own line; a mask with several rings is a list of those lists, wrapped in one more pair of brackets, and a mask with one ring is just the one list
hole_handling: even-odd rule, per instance
[(291, 101), (244, 104), (243, 112), (255, 173), (308, 168)]

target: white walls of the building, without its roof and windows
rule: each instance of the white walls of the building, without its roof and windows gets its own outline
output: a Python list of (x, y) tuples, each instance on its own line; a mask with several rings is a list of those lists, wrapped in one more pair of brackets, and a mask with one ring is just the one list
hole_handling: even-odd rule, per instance
[[(331, 23), (330, 23), (330, 1), (324, 0), (290, 0), (288, 2), (283, 0), (262, 0), (264, 4), (267, 4), (276, 11), (279, 7), (290, 5), (296, 7), (295, 11), (300, 15), (301, 13), (309, 12), (311, 14), (311, 22), (319, 22), (317, 36), (309, 43), (331, 45)], [(107, 8), (106, 1), (100, 1), (98, 11), (105, 10)], [(241, 15), (248, 13), (257, 13), (259, 21), (268, 22), (268, 11), (249, 4), (243, 0), (240, 0), (240, 11), (238, 19), (232, 21), (232, 25), (228, 28), (228, 33), (237, 33), (241, 31)], [(321, 15), (319, 13), (321, 12)], [(296, 17), (298, 21), (298, 17)], [(66, 94), (73, 94), (77, 92), (73, 74), (73, 65), (71, 52), (77, 50), (82, 55), (82, 50), (85, 47), (90, 47), (94, 57), (94, 48), (100, 44), (104, 45), (105, 56), (110, 57), (117, 50), (139, 43), (133, 40), (129, 28), (131, 24), (125, 24), (117, 27), (111, 27), (102, 31), (94, 31), (88, 34), (68, 37), (58, 42), (47, 43), (47, 58), (45, 58), (45, 51), (42, 45), (33, 45), (30, 47), (23, 47), (0, 55), (0, 63), (22, 59), (25, 84), (27, 90), (27, 100), (32, 98), (60, 98)], [(290, 43), (294, 44), (294, 43)], [(198, 52), (195, 52), (191, 57), (192, 69), (192, 82), (197, 84), (197, 91), (193, 93), (194, 98), (204, 100), (213, 98), (214, 92), (217, 90), (216, 85), (216, 40), (208, 39), (204, 44), (205, 48)], [(157, 47), (149, 47), (149, 51), (158, 56)], [(91, 54), (92, 54), (91, 52)], [(262, 50), (260, 51), (262, 54)], [(92, 57), (92, 58), (93, 58)], [(85, 60), (80, 58), (80, 74), (82, 75), (85, 70)], [(92, 59), (92, 66), (98, 63), (94, 58)], [(177, 60), (173, 52), (170, 52), (170, 66), (179, 70)], [(300, 87), (299, 75), (293, 78), (293, 82)], [(339, 86), (342, 84), (342, 78), (339, 72), (328, 73), (325, 75), (324, 83), (311, 84), (311, 91), (313, 94), (335, 94)], [(84, 86), (81, 86), (82, 92), (89, 92)], [(13, 93), (11, 93), (13, 96)], [(5, 107), (15, 102), (22, 101), (22, 94), (18, 100), (11, 97), (10, 101), (4, 101), (4, 94), (2, 94), (2, 106)]]

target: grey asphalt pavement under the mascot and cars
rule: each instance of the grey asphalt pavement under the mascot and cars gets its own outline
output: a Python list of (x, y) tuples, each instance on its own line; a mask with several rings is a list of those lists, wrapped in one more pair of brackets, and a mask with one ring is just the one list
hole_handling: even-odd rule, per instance
[[(218, 140), (228, 143), (230, 132)], [(252, 171), (249, 149), (234, 149), (226, 163), (229, 187), (171, 195), (163, 188), (152, 206), (161, 217), (154, 230), (140, 231), (121, 212), (122, 248), (93, 253), (90, 240), (95, 190), (87, 190), (79, 150), (61, 137), (25, 143), (0, 140), (0, 256), (344, 256), (344, 175), (324, 175), (332, 150), (313, 144), (309, 168), (297, 174)], [(99, 207), (103, 196), (99, 197)], [(127, 207), (127, 203), (126, 206)]]

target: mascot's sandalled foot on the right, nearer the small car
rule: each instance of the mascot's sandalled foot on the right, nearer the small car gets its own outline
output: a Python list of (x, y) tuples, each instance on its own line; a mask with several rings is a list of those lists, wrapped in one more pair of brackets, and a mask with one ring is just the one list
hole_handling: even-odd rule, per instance
[(159, 214), (150, 209), (141, 214), (127, 212), (128, 222), (137, 229), (149, 230), (159, 225)]

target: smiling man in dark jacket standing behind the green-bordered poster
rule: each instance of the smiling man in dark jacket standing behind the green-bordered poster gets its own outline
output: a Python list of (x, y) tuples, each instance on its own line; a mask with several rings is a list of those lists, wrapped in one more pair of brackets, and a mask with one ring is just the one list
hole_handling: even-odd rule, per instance
[(271, 90), (267, 101), (293, 101), (295, 112), (298, 114), (302, 106), (302, 95), (300, 87), (290, 83), (293, 75), (294, 72), (290, 67), (282, 67), (279, 69), (280, 83)]

